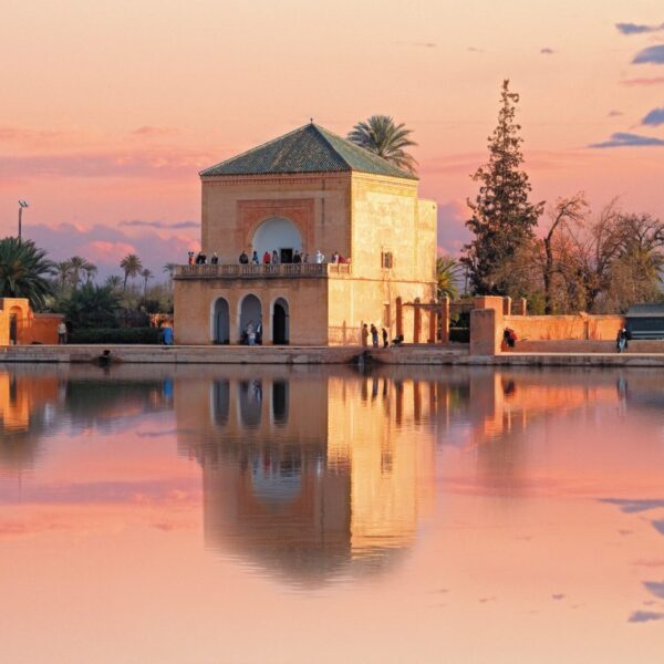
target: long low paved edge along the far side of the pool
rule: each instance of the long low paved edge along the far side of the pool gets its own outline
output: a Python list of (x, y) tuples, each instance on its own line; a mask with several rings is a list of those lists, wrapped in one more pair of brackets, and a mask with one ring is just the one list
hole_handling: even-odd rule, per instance
[(95, 363), (110, 351), (111, 362), (127, 364), (426, 364), (495, 366), (662, 366), (664, 353), (501, 353), (470, 355), (450, 346), (156, 346), (25, 345), (0, 346), (1, 363)]

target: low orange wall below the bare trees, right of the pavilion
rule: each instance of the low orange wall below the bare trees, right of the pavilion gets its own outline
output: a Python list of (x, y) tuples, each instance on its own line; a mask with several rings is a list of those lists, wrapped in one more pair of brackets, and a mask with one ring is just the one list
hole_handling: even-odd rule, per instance
[[(615, 341), (622, 315), (506, 315), (504, 323), (523, 341)], [(592, 352), (592, 351), (589, 351)]]

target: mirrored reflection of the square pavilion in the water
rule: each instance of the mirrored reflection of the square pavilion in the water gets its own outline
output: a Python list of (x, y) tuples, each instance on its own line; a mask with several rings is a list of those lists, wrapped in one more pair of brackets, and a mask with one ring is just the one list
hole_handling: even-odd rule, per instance
[[(236, 373), (237, 375), (232, 375)], [(176, 381), (183, 453), (203, 467), (206, 543), (297, 583), (380, 570), (429, 508), (419, 383), (261, 367)]]

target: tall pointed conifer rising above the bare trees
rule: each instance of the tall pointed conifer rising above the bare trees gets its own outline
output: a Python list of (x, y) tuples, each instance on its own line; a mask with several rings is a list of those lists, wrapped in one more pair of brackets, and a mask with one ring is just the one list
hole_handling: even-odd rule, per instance
[(515, 122), (519, 95), (502, 82), (498, 126), (489, 136), (489, 160), (473, 179), (480, 184), (475, 200), (468, 199), (473, 217), (466, 226), (475, 239), (466, 245), (461, 259), (468, 266), (473, 291), (487, 295), (505, 295), (510, 290), (509, 264), (519, 249), (535, 238), (535, 226), (543, 203), (531, 204), (528, 175), (521, 169), (523, 155)]

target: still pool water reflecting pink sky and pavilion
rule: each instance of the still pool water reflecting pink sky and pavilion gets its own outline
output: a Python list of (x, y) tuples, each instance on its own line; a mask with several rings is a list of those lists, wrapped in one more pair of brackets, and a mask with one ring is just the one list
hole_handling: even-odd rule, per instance
[(0, 662), (661, 662), (660, 371), (0, 369)]

